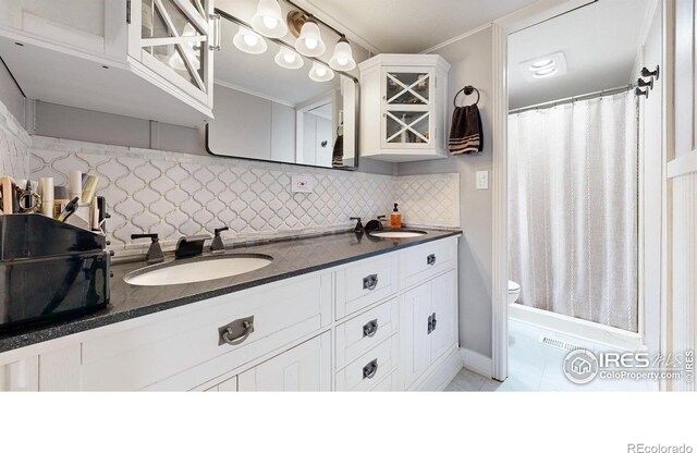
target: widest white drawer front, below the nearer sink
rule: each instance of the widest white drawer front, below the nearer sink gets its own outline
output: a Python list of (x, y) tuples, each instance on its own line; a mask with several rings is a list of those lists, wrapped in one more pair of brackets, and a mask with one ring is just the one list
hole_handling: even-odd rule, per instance
[[(83, 389), (137, 390), (217, 357), (232, 369), (268, 354), (330, 322), (331, 274), (198, 304), (200, 309), (150, 315), (151, 323), (84, 342)], [(244, 341), (219, 344), (221, 327), (252, 316), (254, 331)], [(235, 327), (232, 336), (243, 336)]]

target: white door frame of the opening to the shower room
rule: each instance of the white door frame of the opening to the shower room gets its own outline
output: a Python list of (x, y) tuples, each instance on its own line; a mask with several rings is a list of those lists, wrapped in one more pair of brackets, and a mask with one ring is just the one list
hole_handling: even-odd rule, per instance
[[(548, 21), (558, 15), (565, 14), (578, 8), (583, 8), (598, 0), (540, 0), (509, 14), (492, 23), (493, 42), (493, 166), (492, 166), (492, 198), (493, 198), (493, 250), (492, 250), (492, 339), (491, 339), (491, 377), (503, 381), (509, 371), (509, 306), (508, 306), (508, 281), (509, 281), (509, 250), (508, 250), (508, 117), (509, 117), (509, 87), (508, 87), (508, 39), (509, 35), (527, 28), (529, 26)], [(673, 44), (668, 39), (672, 33), (670, 16), (672, 2), (670, 0), (653, 0), (663, 10), (663, 42), (661, 59), (661, 77), (665, 81), (672, 77)], [(667, 159), (667, 151), (671, 148), (673, 117), (670, 113), (669, 102), (672, 96), (671, 84), (663, 83), (663, 120), (662, 120), (662, 155)], [(665, 162), (664, 162), (665, 164)], [(667, 338), (670, 329), (670, 291), (668, 280), (670, 276), (670, 204), (667, 194), (667, 181), (662, 182), (663, 187), (663, 209), (661, 212), (663, 232), (661, 237), (661, 248), (664, 266), (661, 272), (661, 319), (657, 320), (660, 326), (660, 339), (645, 339), (645, 341), (660, 342), (661, 352), (667, 354), (670, 342)], [(640, 309), (643, 309), (640, 307)], [(665, 389), (665, 382), (660, 383), (661, 390)]]

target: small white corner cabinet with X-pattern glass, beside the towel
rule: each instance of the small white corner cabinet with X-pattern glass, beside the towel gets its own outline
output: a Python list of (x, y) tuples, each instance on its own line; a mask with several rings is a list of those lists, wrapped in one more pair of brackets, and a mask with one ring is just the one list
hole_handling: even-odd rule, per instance
[(379, 54), (359, 68), (362, 156), (392, 162), (447, 157), (448, 62)]

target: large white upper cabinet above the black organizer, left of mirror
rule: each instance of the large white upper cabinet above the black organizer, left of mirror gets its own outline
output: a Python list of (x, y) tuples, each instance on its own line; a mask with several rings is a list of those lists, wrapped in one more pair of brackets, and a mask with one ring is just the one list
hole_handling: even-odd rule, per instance
[(212, 118), (212, 0), (7, 0), (0, 54), (27, 97), (180, 125)]

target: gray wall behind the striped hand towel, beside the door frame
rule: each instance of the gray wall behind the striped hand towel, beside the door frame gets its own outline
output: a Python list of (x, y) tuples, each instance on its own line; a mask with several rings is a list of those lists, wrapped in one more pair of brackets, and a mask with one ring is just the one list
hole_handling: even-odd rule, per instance
[[(491, 357), (491, 289), (493, 198), (491, 191), (475, 188), (475, 172), (488, 170), (491, 177), (492, 30), (490, 27), (438, 49), (452, 65), (448, 77), (448, 125), (452, 98), (464, 85), (479, 89), (484, 124), (484, 152), (453, 156), (442, 160), (400, 163), (398, 174), (460, 173), (460, 212), (463, 237), (460, 242), (460, 344)], [(463, 98), (460, 98), (461, 105)], [(489, 181), (491, 187), (491, 181)]]

